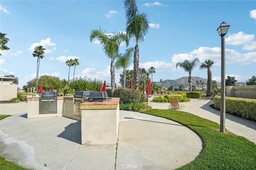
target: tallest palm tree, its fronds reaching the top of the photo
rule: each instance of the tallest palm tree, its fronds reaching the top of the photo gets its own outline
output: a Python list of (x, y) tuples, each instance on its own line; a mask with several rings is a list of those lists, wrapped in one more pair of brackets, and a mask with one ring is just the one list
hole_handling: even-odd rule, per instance
[(143, 42), (144, 36), (148, 33), (148, 16), (145, 13), (139, 14), (135, 0), (124, 0), (126, 16), (126, 34), (129, 40), (135, 40), (134, 47), (134, 86), (139, 87), (139, 46), (138, 42)]

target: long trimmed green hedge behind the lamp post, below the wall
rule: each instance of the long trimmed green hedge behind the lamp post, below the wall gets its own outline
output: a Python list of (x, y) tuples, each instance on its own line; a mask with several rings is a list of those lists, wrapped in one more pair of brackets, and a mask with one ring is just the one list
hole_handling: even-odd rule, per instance
[[(214, 107), (220, 109), (220, 96), (214, 97)], [(226, 112), (256, 121), (256, 99), (226, 97)]]

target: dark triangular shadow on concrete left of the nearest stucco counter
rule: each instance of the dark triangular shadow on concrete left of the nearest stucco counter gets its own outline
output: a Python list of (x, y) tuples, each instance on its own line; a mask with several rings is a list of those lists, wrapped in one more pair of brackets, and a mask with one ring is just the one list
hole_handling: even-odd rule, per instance
[(59, 134), (58, 137), (70, 140), (71, 142), (82, 144), (81, 121), (77, 121), (76, 123), (71, 123), (66, 126), (65, 130)]

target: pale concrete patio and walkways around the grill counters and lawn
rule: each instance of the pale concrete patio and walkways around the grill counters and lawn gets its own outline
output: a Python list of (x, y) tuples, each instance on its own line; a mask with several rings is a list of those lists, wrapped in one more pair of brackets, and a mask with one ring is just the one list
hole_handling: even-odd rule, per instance
[[(185, 109), (220, 122), (213, 101), (191, 99)], [(118, 149), (113, 145), (81, 145), (81, 123), (64, 117), (26, 118), (26, 104), (0, 104), (0, 154), (35, 170), (175, 169), (194, 160), (202, 141), (192, 130), (168, 119), (120, 111)], [(151, 102), (153, 109), (168, 103)], [(256, 142), (256, 123), (226, 114), (226, 128)], [(116, 159), (115, 159), (116, 158)]]

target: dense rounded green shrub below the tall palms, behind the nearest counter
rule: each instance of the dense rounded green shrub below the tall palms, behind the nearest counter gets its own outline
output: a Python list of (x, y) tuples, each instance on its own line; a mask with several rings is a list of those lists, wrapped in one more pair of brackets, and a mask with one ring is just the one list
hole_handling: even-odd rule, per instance
[[(130, 88), (116, 88), (114, 96), (120, 98), (120, 103), (140, 103), (141, 93), (138, 90)], [(143, 102), (143, 101), (142, 101)]]

